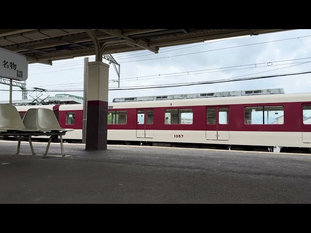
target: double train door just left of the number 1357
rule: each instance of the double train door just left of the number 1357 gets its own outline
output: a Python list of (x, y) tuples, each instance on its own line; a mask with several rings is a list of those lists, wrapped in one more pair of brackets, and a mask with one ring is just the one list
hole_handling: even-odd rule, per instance
[(153, 138), (154, 137), (154, 110), (137, 110), (136, 137)]

